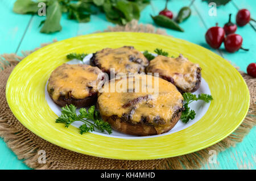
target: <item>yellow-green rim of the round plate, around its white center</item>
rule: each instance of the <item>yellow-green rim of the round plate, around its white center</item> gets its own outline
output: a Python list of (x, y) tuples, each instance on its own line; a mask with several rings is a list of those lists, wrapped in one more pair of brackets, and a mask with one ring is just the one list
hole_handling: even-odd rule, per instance
[[(208, 111), (188, 128), (163, 136), (119, 138), (79, 134), (76, 127), (55, 123), (57, 115), (46, 100), (45, 86), (52, 70), (67, 62), (71, 52), (93, 53), (132, 45), (138, 50), (182, 53), (198, 63), (214, 100)], [(240, 73), (208, 49), (174, 37), (150, 33), (111, 32), (73, 37), (37, 50), (22, 60), (6, 86), (7, 102), (16, 118), (30, 131), (65, 149), (115, 159), (156, 159), (191, 153), (216, 144), (232, 133), (249, 108), (249, 91)]]

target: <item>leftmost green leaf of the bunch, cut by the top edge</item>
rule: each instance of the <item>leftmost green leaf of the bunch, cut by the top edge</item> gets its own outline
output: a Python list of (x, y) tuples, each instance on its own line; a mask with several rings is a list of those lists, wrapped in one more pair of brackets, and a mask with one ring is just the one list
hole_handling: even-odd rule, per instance
[(34, 14), (38, 12), (39, 8), (38, 3), (32, 0), (17, 0), (14, 3), (13, 11), (19, 14)]

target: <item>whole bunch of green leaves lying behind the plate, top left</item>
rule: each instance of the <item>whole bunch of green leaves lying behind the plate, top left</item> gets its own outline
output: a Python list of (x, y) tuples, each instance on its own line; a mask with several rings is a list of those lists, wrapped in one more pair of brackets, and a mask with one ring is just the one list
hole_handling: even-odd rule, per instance
[(42, 33), (61, 31), (62, 13), (67, 13), (69, 19), (86, 23), (98, 9), (105, 12), (109, 22), (125, 25), (132, 19), (139, 19), (141, 11), (150, 4), (150, 0), (16, 0), (13, 11), (19, 14), (36, 14), (40, 9), (38, 2), (47, 5), (46, 20), (39, 25), (43, 25), (40, 30)]

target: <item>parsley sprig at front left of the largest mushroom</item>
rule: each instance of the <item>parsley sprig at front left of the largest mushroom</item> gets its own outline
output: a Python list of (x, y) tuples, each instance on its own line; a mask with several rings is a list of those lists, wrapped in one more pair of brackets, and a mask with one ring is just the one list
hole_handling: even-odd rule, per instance
[[(106, 131), (109, 134), (112, 133), (110, 124), (100, 118), (100, 113), (95, 110), (95, 106), (91, 106), (88, 111), (85, 108), (81, 108), (79, 112), (80, 115), (77, 115), (76, 106), (73, 104), (61, 107), (61, 115), (56, 119), (56, 123), (63, 123), (68, 128), (75, 121), (81, 121), (84, 124), (79, 127), (80, 134), (94, 131), (94, 128), (97, 128), (101, 132)], [(93, 123), (89, 120), (93, 121)]]

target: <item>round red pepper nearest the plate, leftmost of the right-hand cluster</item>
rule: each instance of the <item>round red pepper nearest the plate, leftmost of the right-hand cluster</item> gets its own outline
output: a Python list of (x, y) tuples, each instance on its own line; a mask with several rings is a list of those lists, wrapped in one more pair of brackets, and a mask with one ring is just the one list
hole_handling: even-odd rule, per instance
[(223, 28), (218, 27), (218, 23), (216, 23), (215, 27), (209, 28), (207, 33), (205, 33), (205, 40), (212, 48), (220, 48), (224, 38), (225, 31)]

